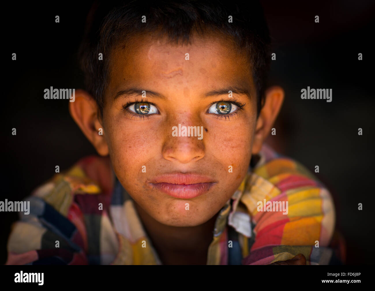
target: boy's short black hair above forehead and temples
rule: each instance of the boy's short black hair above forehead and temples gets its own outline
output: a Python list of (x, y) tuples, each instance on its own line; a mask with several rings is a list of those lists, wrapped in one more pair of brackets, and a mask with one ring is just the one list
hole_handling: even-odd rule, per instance
[[(108, 3), (110, 2), (110, 3)], [(142, 22), (142, 16), (146, 22)], [(229, 16), (233, 18), (229, 22)], [(270, 66), (270, 36), (263, 9), (257, 1), (97, 1), (86, 21), (78, 53), (85, 86), (102, 113), (108, 84), (109, 58), (115, 45), (128, 37), (156, 32), (169, 40), (188, 42), (193, 32), (215, 31), (230, 37), (246, 52), (257, 92), (257, 114), (264, 103)], [(103, 60), (99, 60), (99, 53)]]

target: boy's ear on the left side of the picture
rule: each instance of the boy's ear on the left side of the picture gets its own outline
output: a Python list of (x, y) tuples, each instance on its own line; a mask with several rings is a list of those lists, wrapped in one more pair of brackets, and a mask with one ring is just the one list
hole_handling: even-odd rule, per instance
[[(75, 101), (69, 102), (69, 112), (84, 135), (101, 156), (108, 155), (108, 145), (104, 137), (102, 120), (99, 120), (99, 107), (95, 99), (86, 91), (75, 90)], [(99, 129), (102, 135), (99, 134)]]

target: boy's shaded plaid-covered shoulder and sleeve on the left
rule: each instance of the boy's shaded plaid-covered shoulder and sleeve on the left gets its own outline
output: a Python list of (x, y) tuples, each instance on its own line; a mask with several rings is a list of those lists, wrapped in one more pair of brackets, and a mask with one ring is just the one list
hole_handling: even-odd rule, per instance
[(37, 187), (25, 198), (30, 213), (12, 225), (7, 264), (87, 263), (87, 215), (109, 204), (110, 178), (109, 160), (89, 156)]

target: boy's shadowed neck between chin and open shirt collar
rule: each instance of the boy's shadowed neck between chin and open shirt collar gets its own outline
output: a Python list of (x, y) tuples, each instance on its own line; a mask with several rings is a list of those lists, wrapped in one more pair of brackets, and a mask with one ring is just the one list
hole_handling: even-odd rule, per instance
[(217, 214), (197, 226), (169, 226), (153, 219), (135, 201), (139, 218), (163, 264), (206, 264)]

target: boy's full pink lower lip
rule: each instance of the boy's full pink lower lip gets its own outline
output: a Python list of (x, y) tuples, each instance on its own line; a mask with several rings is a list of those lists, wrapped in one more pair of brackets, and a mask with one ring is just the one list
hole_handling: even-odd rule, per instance
[(172, 197), (181, 199), (191, 199), (206, 193), (214, 184), (215, 183), (198, 183), (189, 185), (179, 185), (169, 183), (152, 183), (151, 185)]

